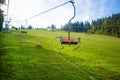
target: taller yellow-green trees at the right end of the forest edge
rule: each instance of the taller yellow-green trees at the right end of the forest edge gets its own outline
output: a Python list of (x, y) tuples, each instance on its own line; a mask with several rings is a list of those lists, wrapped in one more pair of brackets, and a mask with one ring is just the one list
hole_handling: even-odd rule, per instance
[(93, 21), (95, 32), (110, 36), (120, 37), (119, 31), (120, 14), (113, 14), (111, 17)]

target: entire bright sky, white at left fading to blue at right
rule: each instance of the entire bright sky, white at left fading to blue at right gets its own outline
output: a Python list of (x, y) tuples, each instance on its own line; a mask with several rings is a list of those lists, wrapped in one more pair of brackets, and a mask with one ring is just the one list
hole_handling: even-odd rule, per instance
[[(4, 14), (6, 14), (8, 0), (2, 6)], [(34, 28), (47, 28), (51, 24), (60, 28), (62, 25), (68, 23), (73, 16), (73, 7), (71, 3), (67, 3), (57, 9), (28, 19), (36, 14), (44, 12), (48, 9), (56, 7), (60, 4), (68, 2), (69, 0), (9, 0), (8, 18), (11, 18), (11, 25), (20, 27), (23, 25), (27, 27), (32, 25)], [(112, 16), (112, 14), (120, 13), (120, 0), (74, 0), (76, 7), (75, 21), (89, 21), (97, 20)], [(26, 24), (26, 19), (27, 24)]]

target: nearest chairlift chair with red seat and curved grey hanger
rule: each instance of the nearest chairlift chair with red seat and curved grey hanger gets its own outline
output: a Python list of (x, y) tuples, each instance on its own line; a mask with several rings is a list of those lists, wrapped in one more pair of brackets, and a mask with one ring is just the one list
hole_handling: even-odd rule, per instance
[(74, 1), (71, 0), (70, 3), (72, 4), (73, 8), (74, 8), (74, 15), (73, 17), (69, 20), (68, 22), (68, 38), (63, 38), (63, 37), (60, 37), (60, 43), (61, 43), (61, 47), (63, 47), (62, 44), (68, 44), (68, 45), (78, 45), (74, 50), (76, 50), (77, 48), (79, 48), (79, 43), (80, 43), (80, 38), (77, 38), (76, 40), (74, 38), (71, 38), (70, 36), (70, 26), (71, 26), (71, 21), (72, 19), (75, 18), (76, 16), (76, 8), (75, 8), (75, 5), (74, 5)]

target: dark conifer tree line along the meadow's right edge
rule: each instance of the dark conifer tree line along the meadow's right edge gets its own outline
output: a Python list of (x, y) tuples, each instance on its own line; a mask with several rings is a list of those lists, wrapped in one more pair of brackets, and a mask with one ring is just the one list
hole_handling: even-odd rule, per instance
[[(61, 30), (68, 31), (68, 26), (69, 24), (65, 24)], [(70, 29), (73, 32), (97, 33), (120, 37), (120, 13), (113, 14), (107, 18), (93, 20), (91, 23), (89, 21), (76, 21), (70, 24)]]

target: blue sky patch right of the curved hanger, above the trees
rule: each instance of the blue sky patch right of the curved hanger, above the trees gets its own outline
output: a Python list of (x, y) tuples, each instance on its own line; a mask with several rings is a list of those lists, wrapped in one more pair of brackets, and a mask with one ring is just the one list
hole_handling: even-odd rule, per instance
[(96, 20), (120, 13), (120, 0), (81, 0), (81, 3), (78, 2), (76, 6), (77, 16), (80, 17), (81, 21)]

